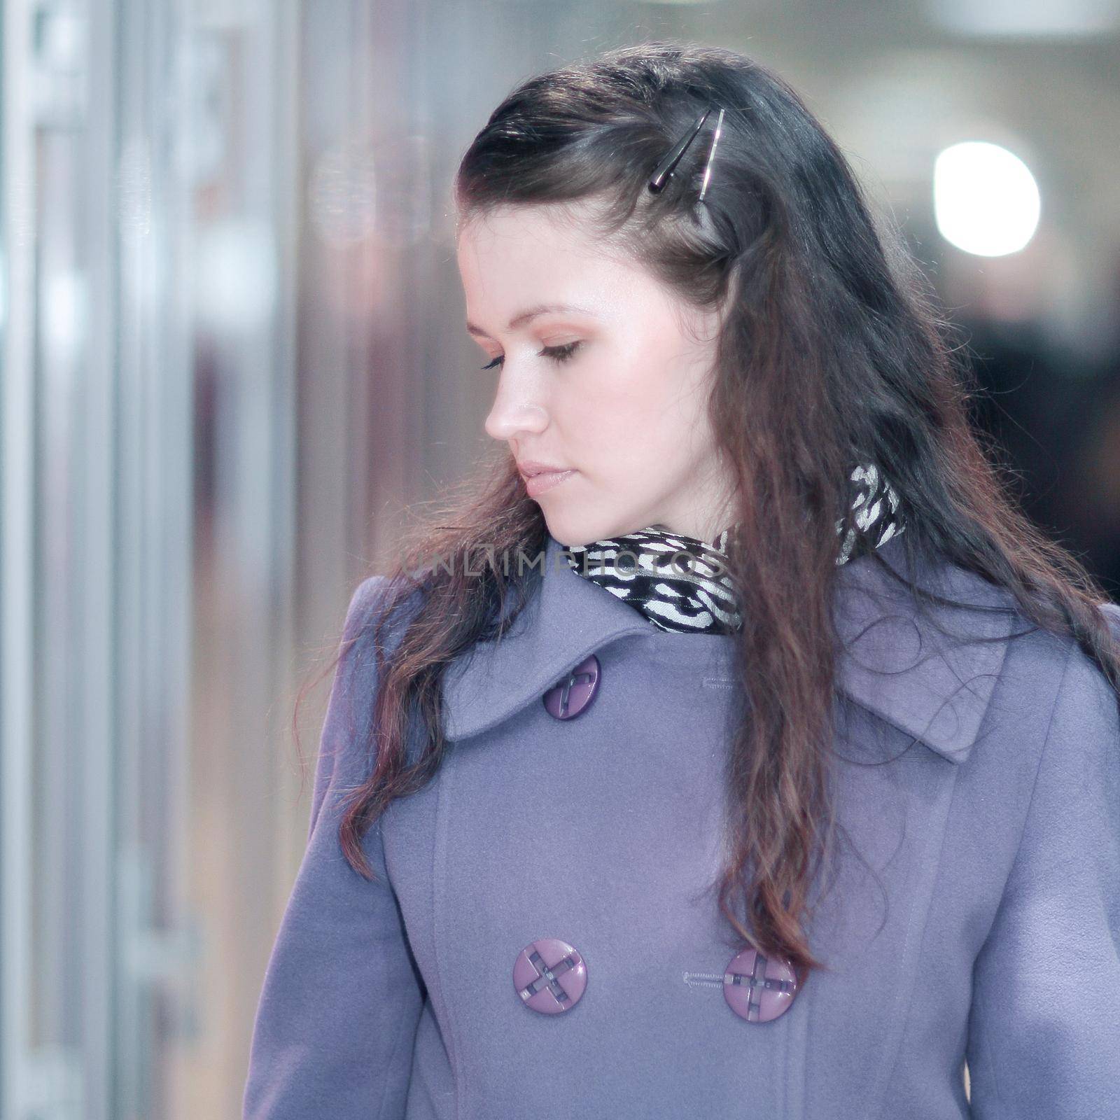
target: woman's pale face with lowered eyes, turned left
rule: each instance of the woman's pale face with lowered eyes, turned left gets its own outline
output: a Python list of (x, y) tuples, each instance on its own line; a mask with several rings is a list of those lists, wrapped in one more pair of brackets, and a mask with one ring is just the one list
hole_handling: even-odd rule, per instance
[(503, 207), (459, 234), (467, 330), (495, 363), (486, 431), (519, 464), (569, 472), (526, 484), (562, 544), (653, 524), (715, 540), (729, 521), (707, 413), (717, 319), (554, 213)]

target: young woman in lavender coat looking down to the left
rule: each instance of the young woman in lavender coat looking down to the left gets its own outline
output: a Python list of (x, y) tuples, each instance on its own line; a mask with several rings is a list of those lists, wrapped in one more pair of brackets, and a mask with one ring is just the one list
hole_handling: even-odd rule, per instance
[(1120, 609), (833, 141), (646, 44), (456, 198), (504, 455), (354, 594), (244, 1116), (1120, 1114)]

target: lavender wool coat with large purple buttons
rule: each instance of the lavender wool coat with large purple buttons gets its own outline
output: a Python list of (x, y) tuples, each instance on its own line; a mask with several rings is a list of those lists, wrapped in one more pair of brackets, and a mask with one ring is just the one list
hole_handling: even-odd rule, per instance
[[(880, 549), (896, 566), (900, 540)], [(703, 889), (734, 638), (657, 629), (561, 548), (514, 628), (449, 670), (448, 756), (367, 836), (376, 884), (337, 838), (375, 663), (360, 642), (339, 664), (246, 1120), (1120, 1117), (1120, 722), (1093, 663), (1043, 631), (1007, 641), (1021, 616), (939, 608), (989, 640), (954, 646), (869, 558), (840, 569), (847, 842), (809, 928), (829, 971), (752, 1023), (725, 999), (739, 943)], [(1010, 601), (954, 567), (922, 579)], [(383, 582), (357, 588), (347, 636)], [(594, 703), (553, 718), (542, 694), (590, 653)], [(562, 1014), (514, 988), (542, 937), (586, 964)]]

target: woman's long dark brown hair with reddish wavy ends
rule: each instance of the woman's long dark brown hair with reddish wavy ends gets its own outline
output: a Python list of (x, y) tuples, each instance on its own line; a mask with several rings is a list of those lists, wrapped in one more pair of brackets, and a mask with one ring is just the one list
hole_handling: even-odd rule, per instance
[[(726, 118), (706, 206), (696, 205), (702, 143), (651, 195), (652, 169), (711, 103)], [(837, 144), (765, 67), (659, 41), (533, 77), (475, 137), (455, 194), (461, 222), (500, 206), (563, 213), (591, 204), (586, 220), (604, 243), (682, 300), (728, 309), (710, 416), (749, 542), (729, 548), (728, 570), (743, 595), (736, 656), (750, 706), (728, 755), (735, 820), (719, 905), (740, 936), (800, 974), (825, 967), (810, 953), (803, 922), (833, 823), (830, 607), (837, 525), (844, 535), (855, 525), (851, 466), (876, 464), (902, 498), (907, 586), (918, 605), (915, 561), (932, 552), (1009, 590), (1032, 629), (1071, 635), (1120, 690), (1120, 655), (1098, 609), (1107, 596), (1005, 491), (996, 449), (970, 422), (977, 390), (965, 347), (897, 228), (872, 217)], [(381, 626), (394, 610), (374, 628), (381, 672), (370, 776), (339, 832), (363, 875), (373, 877), (364, 832), (441, 763), (444, 671), (502, 633), (536, 586), (533, 573), (506, 576), (497, 564), (416, 573), (431, 557), (536, 554), (545, 540), (508, 454), (407, 534), (386, 606), (411, 597), (412, 608), (391, 656)]]

